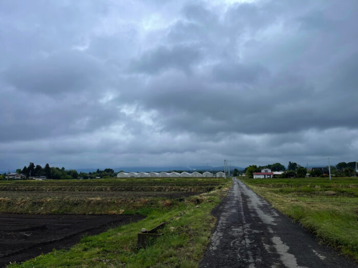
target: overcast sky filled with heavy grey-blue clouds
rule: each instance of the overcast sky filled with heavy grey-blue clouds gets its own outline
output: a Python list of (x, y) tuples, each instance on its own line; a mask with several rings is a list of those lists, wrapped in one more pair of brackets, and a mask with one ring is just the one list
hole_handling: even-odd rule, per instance
[(0, 1), (0, 169), (355, 161), (357, 25), (356, 0)]

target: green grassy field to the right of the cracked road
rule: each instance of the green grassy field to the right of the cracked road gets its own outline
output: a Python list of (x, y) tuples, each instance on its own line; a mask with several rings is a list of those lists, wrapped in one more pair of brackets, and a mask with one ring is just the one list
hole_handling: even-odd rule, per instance
[(241, 179), (322, 241), (358, 260), (358, 179)]

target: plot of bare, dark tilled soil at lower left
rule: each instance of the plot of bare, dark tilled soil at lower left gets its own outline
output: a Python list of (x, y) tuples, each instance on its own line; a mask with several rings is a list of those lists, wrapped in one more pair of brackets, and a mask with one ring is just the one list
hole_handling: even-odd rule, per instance
[(0, 267), (53, 249), (69, 249), (84, 234), (99, 234), (143, 218), (141, 215), (0, 214)]

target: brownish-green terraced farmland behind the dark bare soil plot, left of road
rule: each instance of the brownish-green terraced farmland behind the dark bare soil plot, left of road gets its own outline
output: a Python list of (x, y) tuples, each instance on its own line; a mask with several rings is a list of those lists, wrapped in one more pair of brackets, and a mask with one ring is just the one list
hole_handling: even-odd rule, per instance
[(147, 215), (163, 199), (209, 192), (224, 181), (213, 178), (2, 181), (0, 213)]

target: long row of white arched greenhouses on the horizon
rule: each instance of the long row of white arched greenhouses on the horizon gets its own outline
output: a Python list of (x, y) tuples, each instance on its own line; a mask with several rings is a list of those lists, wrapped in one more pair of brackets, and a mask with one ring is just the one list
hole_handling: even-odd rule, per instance
[(192, 177), (192, 178), (224, 178), (225, 174), (223, 172), (217, 172), (216, 174), (212, 174), (210, 172), (204, 172), (203, 174), (198, 173), (198, 172), (193, 172), (193, 173), (189, 173), (189, 172), (182, 172), (182, 173), (177, 173), (177, 172), (130, 172), (130, 173), (126, 173), (126, 172), (120, 172), (117, 174), (117, 178), (145, 178), (145, 177), (150, 177), (150, 178), (186, 178), (186, 177)]

